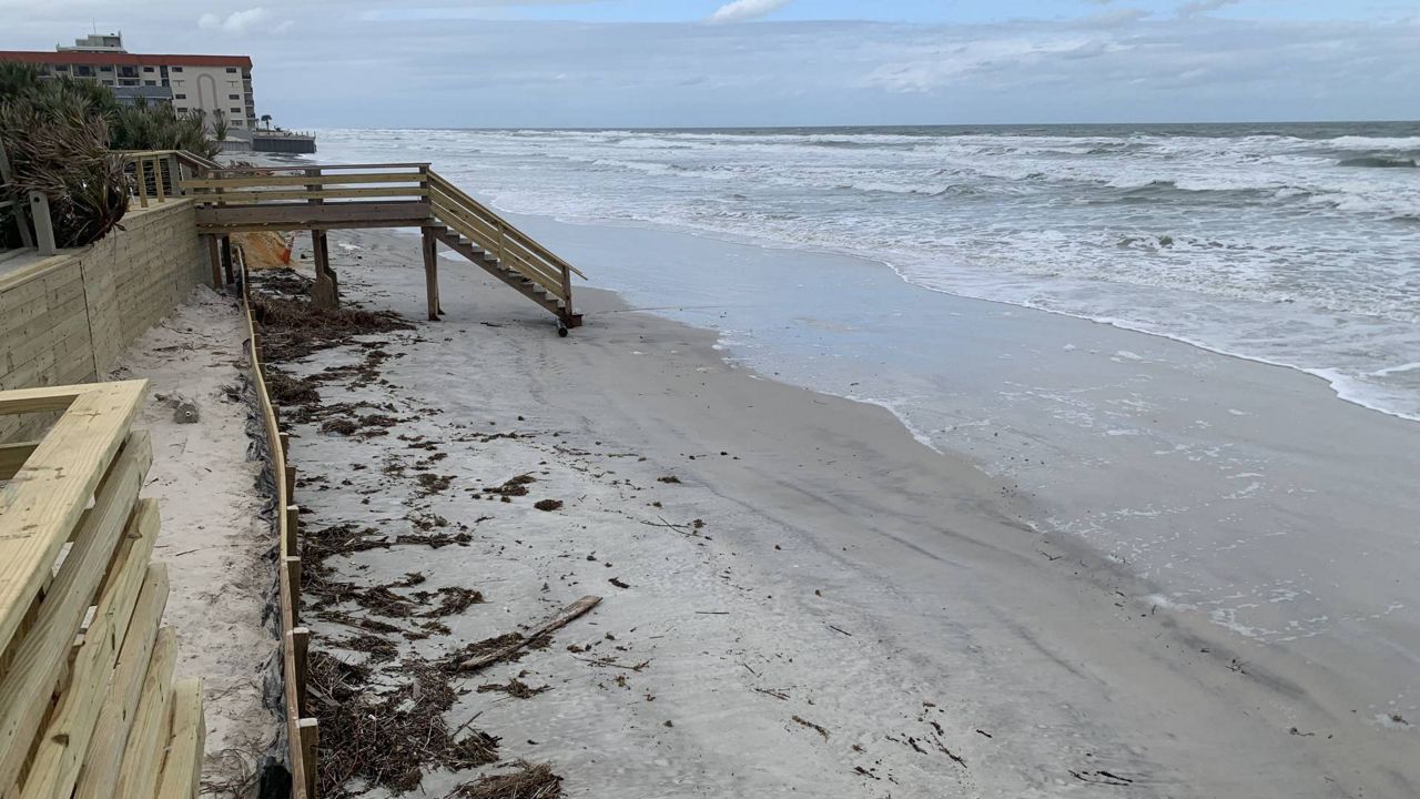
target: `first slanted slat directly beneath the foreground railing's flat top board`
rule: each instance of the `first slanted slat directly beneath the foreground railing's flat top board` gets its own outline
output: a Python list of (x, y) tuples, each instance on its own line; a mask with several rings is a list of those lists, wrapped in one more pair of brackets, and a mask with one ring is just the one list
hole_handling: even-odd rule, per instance
[[(48, 439), (50, 436), (45, 442)], [(40, 449), (43, 448), (44, 444), (40, 445)], [(84, 529), (74, 536), (74, 545), (64, 564), (50, 583), (33, 628), (17, 643), (7, 678), (0, 682), (0, 785), (11, 785), (20, 776), (30, 742), (48, 705), (50, 692), (64, 671), (70, 647), (84, 621), (89, 600), (105, 583), (105, 569), (126, 527), (129, 513), (133, 512), (138, 489), (151, 462), (148, 434), (142, 431), (131, 434), (114, 463), (114, 471), (99, 488), (94, 508), (84, 519)], [(84, 500), (77, 505), (78, 512), (82, 512)], [(143, 535), (149, 535), (151, 529), (151, 535), (156, 536), (158, 506), (152, 502), (139, 505), (135, 523)], [(68, 537), (67, 533), (64, 537)], [(62, 546), (64, 540), (58, 545)], [(51, 562), (53, 559), (47, 563)], [(50, 577), (50, 569), (44, 567), (40, 574), (28, 577), (34, 581), (34, 591), (38, 593), (40, 584)], [(27, 607), (28, 603), (20, 613), (13, 614), (17, 617), (16, 626)]]

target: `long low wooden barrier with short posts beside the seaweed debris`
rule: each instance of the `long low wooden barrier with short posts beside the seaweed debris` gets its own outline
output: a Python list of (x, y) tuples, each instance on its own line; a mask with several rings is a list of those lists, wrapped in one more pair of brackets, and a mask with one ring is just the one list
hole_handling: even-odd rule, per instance
[[(237, 260), (241, 260), (239, 250)], [(267, 390), (261, 344), (251, 318), (251, 294), (241, 270), (241, 309), (247, 321), (247, 355), (256, 375), (257, 405), (271, 451), (271, 475), (275, 483), (275, 518), (280, 536), (280, 572), (277, 574), (281, 614), (281, 675), (284, 677), (287, 765), (291, 769), (293, 799), (315, 798), (317, 742), (320, 724), (307, 707), (305, 675), (311, 631), (301, 627), (301, 546), (298, 539), (301, 509), (291, 502), (295, 495), (295, 466), (290, 465), (291, 439), (281, 432), (275, 404)]]

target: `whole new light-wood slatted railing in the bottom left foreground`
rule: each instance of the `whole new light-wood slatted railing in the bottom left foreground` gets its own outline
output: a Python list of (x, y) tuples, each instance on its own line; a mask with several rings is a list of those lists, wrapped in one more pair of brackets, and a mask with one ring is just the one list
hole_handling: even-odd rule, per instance
[(173, 682), (146, 381), (0, 392), (55, 414), (0, 454), (0, 796), (197, 795), (202, 684)]

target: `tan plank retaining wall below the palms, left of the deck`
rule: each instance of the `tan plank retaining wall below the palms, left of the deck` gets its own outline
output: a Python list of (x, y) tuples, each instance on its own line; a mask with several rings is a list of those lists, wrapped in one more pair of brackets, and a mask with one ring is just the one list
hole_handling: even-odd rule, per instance
[[(131, 209), (122, 225), (88, 247), (0, 274), (0, 391), (102, 380), (135, 338), (210, 280), (192, 200)], [(0, 441), (17, 429), (0, 421)]]

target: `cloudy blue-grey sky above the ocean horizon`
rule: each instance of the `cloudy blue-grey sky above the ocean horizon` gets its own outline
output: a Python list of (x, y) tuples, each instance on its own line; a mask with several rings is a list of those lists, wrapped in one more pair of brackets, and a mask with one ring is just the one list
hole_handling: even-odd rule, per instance
[[(264, 4), (258, 4), (264, 3)], [(1420, 118), (1420, 0), (0, 0), (250, 54), (287, 127)]]

